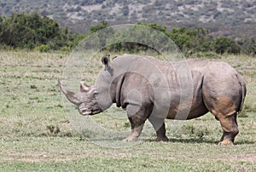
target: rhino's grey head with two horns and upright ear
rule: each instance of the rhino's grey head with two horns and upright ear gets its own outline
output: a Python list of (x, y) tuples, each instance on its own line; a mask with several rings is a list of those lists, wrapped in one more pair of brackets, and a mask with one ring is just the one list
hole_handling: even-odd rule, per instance
[(109, 98), (109, 88), (112, 82), (113, 68), (109, 64), (109, 54), (102, 57), (104, 65), (102, 72), (98, 75), (96, 83), (92, 86), (80, 82), (80, 92), (73, 93), (63, 87), (58, 81), (61, 91), (66, 95), (67, 100), (79, 106), (82, 115), (94, 115), (108, 109), (113, 103)]

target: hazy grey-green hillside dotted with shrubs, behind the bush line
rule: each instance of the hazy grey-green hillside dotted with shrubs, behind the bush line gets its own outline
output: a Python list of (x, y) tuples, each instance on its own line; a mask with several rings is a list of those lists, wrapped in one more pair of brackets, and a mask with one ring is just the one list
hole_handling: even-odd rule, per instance
[(204, 26), (216, 35), (252, 37), (256, 26), (253, 0), (45, 0), (0, 1), (0, 14), (38, 11), (77, 32), (100, 20), (110, 24), (154, 22), (172, 26)]

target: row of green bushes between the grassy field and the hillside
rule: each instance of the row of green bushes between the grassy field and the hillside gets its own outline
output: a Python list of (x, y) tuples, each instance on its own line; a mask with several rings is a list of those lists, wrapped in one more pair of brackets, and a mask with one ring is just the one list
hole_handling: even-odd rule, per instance
[[(250, 39), (213, 37), (209, 30), (202, 27), (173, 27), (171, 31), (168, 31), (166, 26), (154, 23), (138, 22), (137, 25), (148, 26), (163, 32), (185, 54), (198, 52), (256, 54), (256, 37)], [(87, 35), (104, 28), (108, 28), (108, 22), (99, 22), (95, 26), (90, 26), (90, 31)], [(122, 34), (119, 34), (120, 36)], [(0, 16), (0, 49), (71, 50), (84, 37), (86, 37), (86, 34), (72, 32), (67, 27), (61, 28), (55, 20), (41, 16), (36, 12), (14, 13), (9, 18)], [(154, 39), (154, 35), (152, 37)], [(99, 39), (102, 39), (102, 36)], [(108, 40), (102, 40), (102, 42), (107, 43)], [(134, 52), (150, 49), (150, 47), (130, 42), (115, 43), (109, 49), (113, 51), (126, 50)]]

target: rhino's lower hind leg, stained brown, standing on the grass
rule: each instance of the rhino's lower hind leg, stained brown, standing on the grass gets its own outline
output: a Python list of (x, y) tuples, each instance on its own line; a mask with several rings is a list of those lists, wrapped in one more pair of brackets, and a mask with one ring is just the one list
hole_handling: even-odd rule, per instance
[(224, 133), (220, 139), (219, 145), (233, 145), (236, 135), (239, 133), (236, 123), (236, 113), (230, 117), (219, 118)]

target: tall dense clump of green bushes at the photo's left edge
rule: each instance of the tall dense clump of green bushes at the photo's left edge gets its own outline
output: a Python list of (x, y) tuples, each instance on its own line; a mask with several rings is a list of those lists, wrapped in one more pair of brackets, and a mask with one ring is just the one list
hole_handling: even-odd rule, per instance
[(55, 20), (38, 13), (14, 13), (0, 16), (0, 46), (11, 49), (71, 49), (83, 38)]

